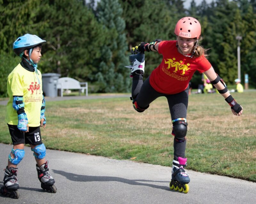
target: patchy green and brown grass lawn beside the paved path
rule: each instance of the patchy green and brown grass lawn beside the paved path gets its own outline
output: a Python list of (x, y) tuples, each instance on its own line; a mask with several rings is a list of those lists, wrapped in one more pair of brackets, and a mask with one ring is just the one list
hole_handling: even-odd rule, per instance
[[(240, 117), (220, 94), (190, 95), (187, 168), (255, 182), (256, 92), (232, 95), (244, 108)], [(0, 106), (0, 142), (11, 143), (5, 114), (6, 106)], [(41, 131), (49, 149), (172, 165), (166, 98), (156, 99), (143, 113), (133, 109), (129, 98), (46, 101), (45, 114)]]

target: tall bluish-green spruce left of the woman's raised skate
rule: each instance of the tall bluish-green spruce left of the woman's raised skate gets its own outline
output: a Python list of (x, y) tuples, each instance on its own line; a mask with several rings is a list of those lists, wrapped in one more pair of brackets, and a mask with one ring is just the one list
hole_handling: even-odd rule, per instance
[(126, 55), (128, 47), (124, 33), (125, 21), (122, 18), (123, 9), (118, 0), (101, 0), (96, 11), (99, 22), (104, 25), (103, 32), (108, 35), (100, 49), (101, 62), (95, 75), (99, 91), (129, 91), (131, 80), (129, 71), (124, 68), (130, 62)]

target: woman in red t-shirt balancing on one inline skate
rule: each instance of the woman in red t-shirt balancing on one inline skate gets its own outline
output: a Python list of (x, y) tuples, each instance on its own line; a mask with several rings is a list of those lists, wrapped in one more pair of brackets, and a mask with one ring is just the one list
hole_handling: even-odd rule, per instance
[[(154, 40), (142, 42), (132, 48), (129, 59), (133, 63), (132, 103), (138, 112), (145, 111), (149, 104), (160, 96), (167, 98), (172, 118), (172, 135), (174, 136), (174, 159), (172, 164), (172, 180), (170, 188), (188, 193), (190, 179), (184, 170), (187, 165), (185, 158), (187, 134), (187, 109), (189, 81), (194, 72), (204, 73), (220, 94), (231, 106), (234, 115), (240, 116), (243, 108), (230, 95), (223, 80), (215, 73), (210, 62), (205, 58), (206, 51), (198, 45), (201, 25), (192, 17), (181, 18), (174, 33), (177, 40)], [(161, 64), (152, 71), (143, 82), (145, 57), (144, 52), (158, 51), (163, 55)], [(136, 54), (137, 53), (137, 54)]]

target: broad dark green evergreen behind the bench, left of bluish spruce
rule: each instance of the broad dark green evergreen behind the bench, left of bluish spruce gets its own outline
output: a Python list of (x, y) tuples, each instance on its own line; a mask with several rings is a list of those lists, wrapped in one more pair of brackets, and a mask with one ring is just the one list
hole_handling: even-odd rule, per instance
[(105, 35), (92, 11), (79, 0), (49, 0), (44, 1), (37, 18), (47, 22), (41, 32), (47, 40), (42, 71), (93, 82), (92, 73), (100, 59), (96, 47), (104, 44)]

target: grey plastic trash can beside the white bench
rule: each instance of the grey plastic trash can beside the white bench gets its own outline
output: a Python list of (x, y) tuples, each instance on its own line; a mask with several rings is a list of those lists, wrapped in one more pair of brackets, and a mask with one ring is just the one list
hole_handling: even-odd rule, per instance
[(57, 82), (60, 78), (60, 74), (56, 73), (46, 73), (42, 74), (43, 92), (45, 96), (57, 97)]

